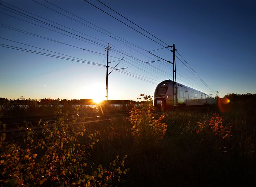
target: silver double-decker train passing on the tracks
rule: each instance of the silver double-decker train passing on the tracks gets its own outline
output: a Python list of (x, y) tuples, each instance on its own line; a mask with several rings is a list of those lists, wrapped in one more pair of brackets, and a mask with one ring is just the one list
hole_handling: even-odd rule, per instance
[[(216, 104), (216, 99), (201, 91), (188, 86), (176, 83), (177, 85), (177, 103), (173, 98), (173, 81), (164, 80), (159, 83), (155, 89), (153, 104), (156, 108), (168, 109), (173, 106), (193, 106)], [(174, 99), (174, 102), (173, 102)]]

